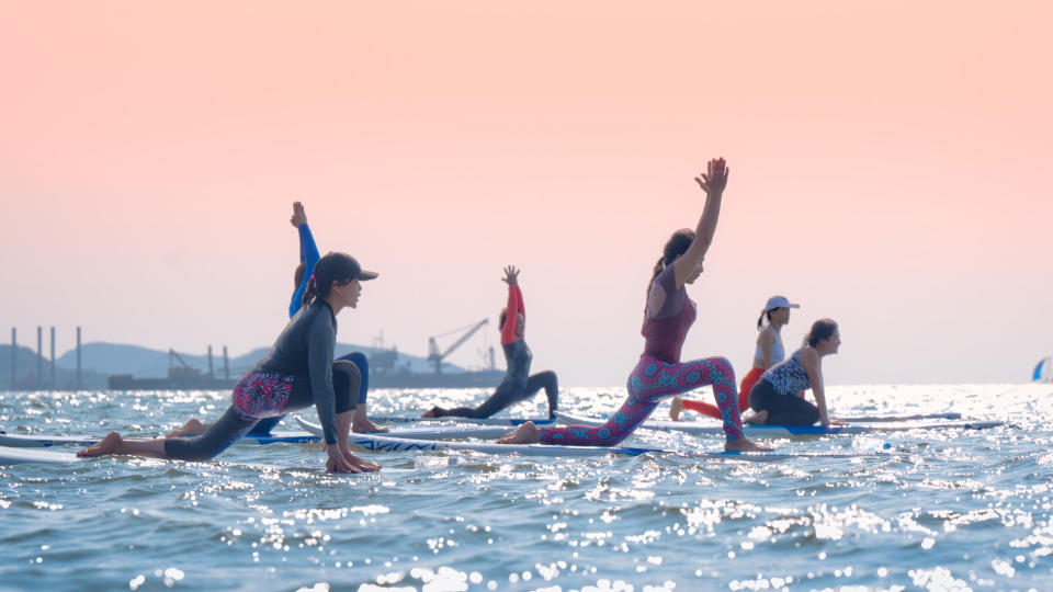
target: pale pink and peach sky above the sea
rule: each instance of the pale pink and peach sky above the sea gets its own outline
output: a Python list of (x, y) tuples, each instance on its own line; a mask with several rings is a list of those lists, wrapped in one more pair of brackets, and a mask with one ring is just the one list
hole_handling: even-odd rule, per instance
[(302, 201), (381, 274), (340, 342), (422, 355), (489, 318), (450, 358), (479, 365), (514, 264), (534, 371), (623, 385), (723, 156), (686, 360), (744, 374), (773, 294), (789, 350), (839, 322), (827, 384), (1024, 382), (1053, 353), (1049, 2), (0, 3), (22, 344), (271, 343)]

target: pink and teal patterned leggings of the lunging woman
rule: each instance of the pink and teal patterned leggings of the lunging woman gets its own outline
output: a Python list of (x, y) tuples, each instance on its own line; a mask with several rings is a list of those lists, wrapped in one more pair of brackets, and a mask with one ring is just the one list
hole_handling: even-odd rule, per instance
[(567, 425), (542, 428), (542, 444), (568, 446), (613, 446), (629, 437), (644, 422), (658, 402), (700, 386), (712, 385), (716, 406), (724, 417), (724, 435), (728, 441), (743, 437), (743, 420), (738, 415), (735, 371), (726, 357), (706, 357), (669, 364), (645, 356), (629, 375), (629, 398), (607, 423), (596, 428)]

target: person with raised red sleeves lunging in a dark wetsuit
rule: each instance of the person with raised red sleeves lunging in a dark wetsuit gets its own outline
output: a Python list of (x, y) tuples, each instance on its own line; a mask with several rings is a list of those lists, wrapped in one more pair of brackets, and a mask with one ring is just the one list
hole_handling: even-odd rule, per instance
[(511, 407), (520, 401), (524, 401), (534, 396), (535, 392), (545, 389), (545, 396), (548, 397), (548, 417), (555, 418), (556, 402), (559, 386), (556, 382), (556, 373), (552, 371), (530, 374), (530, 363), (534, 357), (526, 342), (523, 341), (523, 334), (526, 326), (526, 309), (523, 306), (523, 294), (519, 289), (519, 270), (513, 265), (505, 267), (505, 277), (501, 280), (508, 284), (508, 307), (501, 310), (501, 349), (505, 350), (505, 362), (508, 364), (508, 372), (497, 390), (483, 405), (471, 407), (457, 407), (454, 409), (443, 409), (433, 407), (427, 411), (426, 418), (488, 418), (506, 407)]

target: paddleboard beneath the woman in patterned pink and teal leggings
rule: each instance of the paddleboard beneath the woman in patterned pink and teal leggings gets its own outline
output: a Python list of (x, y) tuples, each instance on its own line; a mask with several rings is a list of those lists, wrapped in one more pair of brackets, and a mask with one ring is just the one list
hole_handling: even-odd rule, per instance
[(773, 462), (793, 458), (860, 458), (885, 457), (886, 453), (781, 453), (781, 452), (703, 452), (631, 446), (557, 446), (547, 444), (494, 444), (489, 442), (440, 442), (384, 437), (375, 434), (351, 434), (352, 447), (366, 452), (478, 452), (485, 454), (518, 454), (522, 456), (638, 456), (642, 454), (679, 455), (691, 458), (723, 460)]

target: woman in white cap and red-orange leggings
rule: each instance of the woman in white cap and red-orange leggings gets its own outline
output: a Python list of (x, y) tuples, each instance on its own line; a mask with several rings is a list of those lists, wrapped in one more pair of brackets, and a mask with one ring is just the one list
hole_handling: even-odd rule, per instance
[[(801, 305), (790, 303), (785, 296), (772, 296), (768, 298), (768, 304), (765, 305), (765, 309), (761, 310), (760, 317), (757, 319), (757, 330), (760, 331), (760, 334), (757, 335), (757, 353), (754, 355), (754, 367), (743, 377), (743, 382), (738, 388), (739, 412), (749, 409), (749, 390), (754, 388), (757, 380), (760, 380), (760, 375), (763, 374), (766, 369), (786, 358), (786, 350), (782, 345), (782, 335), (779, 331), (784, 325), (790, 322), (791, 308), (801, 308)], [(765, 325), (766, 317), (768, 325)], [(801, 396), (803, 397), (804, 392), (802, 392)], [(672, 419), (672, 421), (679, 421), (680, 412), (684, 409), (697, 411), (711, 418), (721, 419), (722, 417), (721, 410), (715, 406), (676, 397), (669, 407), (669, 418)], [(751, 418), (743, 418), (743, 421), (746, 423), (751, 423), (750, 420)]]

